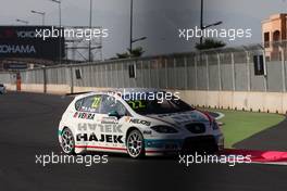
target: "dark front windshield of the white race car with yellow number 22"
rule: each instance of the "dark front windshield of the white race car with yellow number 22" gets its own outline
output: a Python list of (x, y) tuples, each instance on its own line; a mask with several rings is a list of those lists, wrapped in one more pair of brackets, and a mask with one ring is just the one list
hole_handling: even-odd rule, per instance
[(130, 99), (125, 101), (140, 115), (167, 114), (195, 110), (184, 101), (174, 97), (161, 100)]

